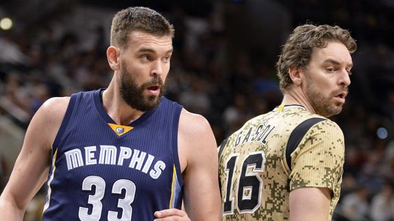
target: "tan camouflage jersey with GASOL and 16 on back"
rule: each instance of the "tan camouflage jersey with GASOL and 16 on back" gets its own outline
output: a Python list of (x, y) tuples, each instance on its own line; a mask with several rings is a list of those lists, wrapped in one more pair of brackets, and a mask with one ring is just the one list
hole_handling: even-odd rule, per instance
[(289, 220), (289, 193), (332, 190), (338, 203), (343, 133), (335, 122), (300, 105), (281, 105), (249, 120), (219, 147), (223, 220)]

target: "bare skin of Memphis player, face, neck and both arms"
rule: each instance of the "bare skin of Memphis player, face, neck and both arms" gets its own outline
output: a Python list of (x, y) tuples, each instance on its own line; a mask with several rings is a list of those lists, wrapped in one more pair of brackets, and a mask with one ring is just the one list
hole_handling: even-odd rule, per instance
[[(171, 37), (153, 36), (142, 31), (130, 33), (129, 44), (125, 49), (108, 47), (108, 64), (114, 70), (114, 76), (103, 92), (103, 107), (117, 124), (128, 125), (144, 113), (130, 107), (122, 99), (119, 92), (121, 70), (131, 73), (138, 86), (151, 81), (153, 77), (160, 77), (165, 82), (172, 51)], [(145, 100), (156, 101), (148, 99), (148, 96), (154, 96), (156, 92), (145, 90)], [(49, 99), (32, 119), (10, 181), (0, 196), (2, 220), (22, 220), (27, 203), (45, 183), (51, 164), (51, 145), (69, 100), (69, 97)], [(182, 109), (180, 115), (178, 155), (184, 179), (184, 206), (187, 213), (179, 209), (156, 211), (156, 220), (220, 220), (216, 141), (208, 121), (186, 109)]]

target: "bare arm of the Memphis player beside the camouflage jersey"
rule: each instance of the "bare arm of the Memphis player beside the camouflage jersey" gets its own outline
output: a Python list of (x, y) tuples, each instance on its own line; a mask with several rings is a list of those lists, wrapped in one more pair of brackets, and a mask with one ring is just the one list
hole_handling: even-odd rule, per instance
[(178, 129), (178, 154), (184, 180), (184, 207), (155, 213), (158, 221), (221, 220), (217, 143), (208, 121), (182, 110)]

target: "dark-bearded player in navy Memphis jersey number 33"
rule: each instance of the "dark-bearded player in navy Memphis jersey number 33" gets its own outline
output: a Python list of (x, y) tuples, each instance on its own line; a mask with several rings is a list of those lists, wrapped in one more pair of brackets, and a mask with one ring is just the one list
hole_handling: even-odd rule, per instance
[(1, 220), (22, 220), (45, 181), (43, 220), (220, 219), (212, 130), (162, 96), (172, 38), (173, 26), (148, 8), (114, 16), (110, 85), (40, 107), (1, 195)]

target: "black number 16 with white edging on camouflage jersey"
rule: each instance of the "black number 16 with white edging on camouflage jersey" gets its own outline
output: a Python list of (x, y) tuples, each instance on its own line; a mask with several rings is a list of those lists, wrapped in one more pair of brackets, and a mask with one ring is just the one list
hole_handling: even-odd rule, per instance
[[(223, 214), (232, 214), (234, 212), (234, 196), (232, 188), (234, 170), (238, 154), (230, 155), (225, 164), (226, 189), (223, 204)], [(258, 172), (264, 171), (265, 155), (264, 152), (258, 151), (249, 153), (243, 160), (241, 174), (238, 176), (238, 185), (236, 189), (237, 209), (239, 213), (253, 213), (260, 207), (260, 194), (262, 188), (262, 179)]]

